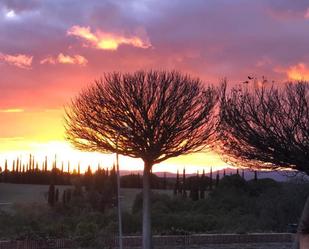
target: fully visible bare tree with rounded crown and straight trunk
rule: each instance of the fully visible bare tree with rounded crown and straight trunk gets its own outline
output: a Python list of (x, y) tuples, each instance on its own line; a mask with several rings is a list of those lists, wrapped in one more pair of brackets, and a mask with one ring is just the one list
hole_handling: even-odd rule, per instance
[(152, 248), (150, 170), (171, 157), (210, 147), (217, 90), (179, 72), (111, 73), (66, 109), (67, 139), (78, 149), (144, 161), (143, 248)]

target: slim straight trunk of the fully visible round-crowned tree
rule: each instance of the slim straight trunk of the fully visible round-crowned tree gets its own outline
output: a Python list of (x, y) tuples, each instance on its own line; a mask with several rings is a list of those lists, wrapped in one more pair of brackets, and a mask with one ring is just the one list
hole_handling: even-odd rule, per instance
[(150, 169), (151, 164), (145, 162), (143, 175), (143, 249), (152, 249), (151, 217), (150, 217)]

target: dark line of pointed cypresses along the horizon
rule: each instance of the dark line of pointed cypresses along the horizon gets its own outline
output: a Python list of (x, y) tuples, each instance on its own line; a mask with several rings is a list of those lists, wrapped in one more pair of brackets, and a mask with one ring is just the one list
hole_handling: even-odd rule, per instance
[[(73, 170), (71, 170), (70, 162), (68, 162), (67, 165), (62, 163), (60, 168), (57, 167), (55, 156), (51, 169), (48, 168), (47, 157), (45, 157), (41, 165), (34, 160), (32, 155), (30, 155), (27, 164), (22, 163), (21, 160), (17, 158), (9, 167), (6, 160), (4, 169), (0, 167), (0, 182), (74, 185), (74, 183), (78, 181), (80, 186), (86, 189), (100, 189), (106, 185), (106, 182), (113, 182), (113, 185), (116, 186), (117, 178), (115, 167), (108, 169), (98, 165), (97, 169), (92, 172), (93, 167), (88, 166), (86, 172), (81, 173), (79, 164), (77, 167), (75, 166)], [(196, 201), (204, 199), (207, 191), (212, 191), (218, 186), (220, 178), (226, 175), (225, 170), (223, 170), (221, 174), (222, 175), (220, 175), (219, 171), (212, 172), (211, 169), (208, 175), (206, 175), (203, 170), (202, 174), (197, 172), (196, 175), (187, 176), (185, 169), (183, 169), (181, 175), (177, 171), (176, 178), (167, 177), (166, 173), (164, 173), (163, 177), (151, 174), (150, 183), (152, 189), (172, 189), (175, 196), (188, 197)], [(240, 175), (238, 169), (236, 174)], [(242, 171), (241, 177), (244, 178), (244, 171)], [(255, 178), (256, 177), (257, 174), (255, 172)], [(121, 176), (120, 181), (122, 188), (142, 188), (142, 175), (139, 173)]]

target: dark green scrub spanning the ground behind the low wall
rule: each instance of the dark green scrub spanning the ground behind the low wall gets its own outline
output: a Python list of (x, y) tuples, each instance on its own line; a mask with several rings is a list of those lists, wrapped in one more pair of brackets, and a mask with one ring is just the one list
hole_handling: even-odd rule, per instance
[[(59, 189), (61, 196), (64, 189)], [(140, 190), (122, 191), (127, 204), (124, 232), (141, 234)], [(155, 234), (286, 232), (288, 224), (298, 222), (308, 194), (308, 183), (245, 181), (239, 175), (225, 176), (198, 201), (174, 196), (172, 190), (153, 191), (152, 225)], [(53, 207), (47, 205), (47, 200), (15, 204), (14, 212), (0, 211), (0, 238), (66, 237), (81, 246), (98, 246), (103, 238), (117, 234), (117, 210), (109, 206), (100, 211), (93, 205), (93, 197), (91, 191), (74, 195), (72, 190), (72, 200), (66, 204), (61, 198)]]

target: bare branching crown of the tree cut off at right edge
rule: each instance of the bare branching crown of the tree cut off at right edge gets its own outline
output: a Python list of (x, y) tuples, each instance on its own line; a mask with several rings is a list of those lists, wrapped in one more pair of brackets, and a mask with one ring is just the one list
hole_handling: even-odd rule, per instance
[(223, 158), (254, 168), (309, 173), (309, 85), (234, 88), (222, 97)]

